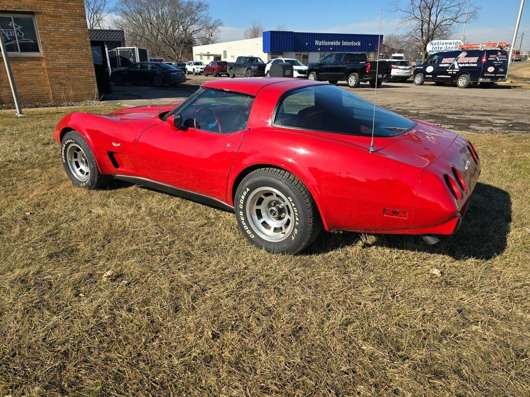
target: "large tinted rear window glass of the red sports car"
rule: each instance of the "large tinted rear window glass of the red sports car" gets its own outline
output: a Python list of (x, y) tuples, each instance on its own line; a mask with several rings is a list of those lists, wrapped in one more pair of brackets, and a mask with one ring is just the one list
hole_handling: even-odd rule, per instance
[[(280, 99), (276, 125), (314, 131), (370, 136), (374, 105), (334, 85), (297, 88)], [(376, 137), (393, 137), (415, 122), (382, 107), (375, 107)]]

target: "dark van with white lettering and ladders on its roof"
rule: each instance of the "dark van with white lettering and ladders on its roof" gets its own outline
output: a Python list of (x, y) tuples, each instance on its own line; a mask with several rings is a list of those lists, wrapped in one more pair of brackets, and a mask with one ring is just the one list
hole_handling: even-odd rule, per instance
[(489, 88), (496, 82), (505, 82), (507, 70), (508, 53), (505, 50), (438, 52), (414, 68), (414, 84), (456, 83), (458, 88), (466, 88), (471, 83), (480, 83)]

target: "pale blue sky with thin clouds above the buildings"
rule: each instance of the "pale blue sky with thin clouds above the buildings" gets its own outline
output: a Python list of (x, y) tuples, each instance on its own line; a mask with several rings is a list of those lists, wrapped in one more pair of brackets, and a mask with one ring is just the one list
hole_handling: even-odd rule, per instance
[[(406, 0), (401, 0), (406, 1)], [(208, 0), (206, 0), (208, 2)], [(508, 41), (519, 11), (519, 0), (472, 0), (480, 5), (477, 22), (467, 24), (466, 42)], [(370, 0), (303, 0), (303, 1), (210, 1), (210, 13), (223, 21), (219, 41), (243, 39), (243, 32), (252, 20), (259, 20), (265, 30), (286, 25), (299, 32), (377, 33), (379, 10), (383, 9), (382, 33), (401, 32), (400, 14), (390, 11), (390, 2)], [(527, 2), (528, 3), (528, 2)], [(519, 27), (520, 34), (527, 24), (523, 50), (530, 50), (530, 4), (526, 4)], [(455, 38), (459, 38), (458, 35)], [(462, 30), (460, 29), (460, 38)]]

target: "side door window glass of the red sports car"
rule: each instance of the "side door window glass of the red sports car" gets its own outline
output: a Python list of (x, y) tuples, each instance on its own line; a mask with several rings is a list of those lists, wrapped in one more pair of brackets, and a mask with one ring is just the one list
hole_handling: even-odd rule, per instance
[(218, 89), (202, 89), (179, 113), (185, 127), (230, 133), (246, 128), (254, 97)]

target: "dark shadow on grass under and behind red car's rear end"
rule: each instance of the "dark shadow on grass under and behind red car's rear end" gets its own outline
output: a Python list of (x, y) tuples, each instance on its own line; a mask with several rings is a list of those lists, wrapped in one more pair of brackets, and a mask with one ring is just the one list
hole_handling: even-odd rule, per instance
[[(365, 247), (381, 246), (430, 254), (449, 255), (454, 259), (491, 259), (506, 249), (511, 223), (509, 194), (497, 187), (478, 183), (460, 229), (451, 236), (441, 236), (440, 242), (428, 245), (420, 236), (375, 234), (376, 240)], [(359, 233), (324, 233), (305, 254), (318, 254), (354, 245)]]

